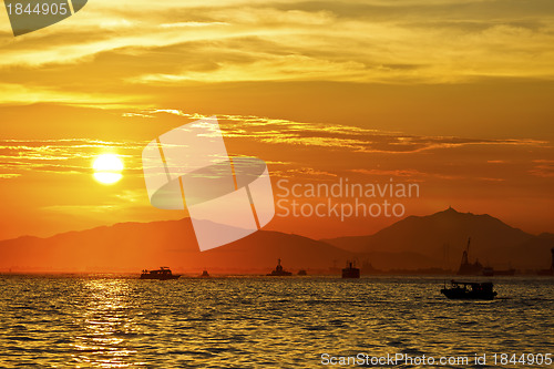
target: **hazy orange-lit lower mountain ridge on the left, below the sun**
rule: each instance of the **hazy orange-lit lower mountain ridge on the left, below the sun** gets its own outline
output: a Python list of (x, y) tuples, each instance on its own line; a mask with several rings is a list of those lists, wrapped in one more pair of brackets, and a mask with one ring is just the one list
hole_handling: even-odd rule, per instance
[(0, 242), (0, 256), (1, 270), (25, 271), (137, 271), (168, 265), (191, 273), (206, 267), (214, 273), (266, 274), (279, 257), (286, 269), (318, 273), (368, 257), (384, 269), (435, 265), (414, 253), (356, 255), (320, 240), (268, 230), (201, 253), (188, 218), (121, 223), (49, 238), (25, 236)]

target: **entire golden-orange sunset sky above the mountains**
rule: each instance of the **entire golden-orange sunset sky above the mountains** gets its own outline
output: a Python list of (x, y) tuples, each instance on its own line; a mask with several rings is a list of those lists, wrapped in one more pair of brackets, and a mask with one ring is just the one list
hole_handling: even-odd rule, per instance
[[(448, 206), (554, 232), (550, 0), (91, 0), (14, 38), (0, 11), (0, 239), (176, 219), (148, 203), (142, 148), (215, 115), (276, 183), (417, 183)], [(103, 153), (123, 180), (92, 177)], [(310, 202), (312, 199), (306, 199)], [(314, 238), (394, 217), (279, 217)]]

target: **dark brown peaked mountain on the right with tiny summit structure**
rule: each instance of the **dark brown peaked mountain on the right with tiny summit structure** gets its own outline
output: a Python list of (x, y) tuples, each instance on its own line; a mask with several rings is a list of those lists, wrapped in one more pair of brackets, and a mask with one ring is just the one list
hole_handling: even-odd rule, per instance
[(373, 235), (324, 242), (352, 253), (416, 252), (455, 268), (471, 237), (472, 259), (497, 267), (511, 264), (536, 268), (548, 260), (548, 249), (554, 246), (551, 236), (534, 236), (488, 214), (460, 213), (450, 207), (428, 216), (409, 216)]

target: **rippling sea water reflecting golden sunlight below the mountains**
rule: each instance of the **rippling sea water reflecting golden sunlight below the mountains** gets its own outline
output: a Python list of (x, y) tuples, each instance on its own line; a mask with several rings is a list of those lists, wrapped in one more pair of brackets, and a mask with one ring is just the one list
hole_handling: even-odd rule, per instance
[(492, 278), (493, 301), (447, 300), (438, 277), (135, 278), (0, 276), (0, 367), (321, 368), (402, 353), (466, 368), (486, 353), (491, 368), (494, 353), (554, 351), (554, 278)]

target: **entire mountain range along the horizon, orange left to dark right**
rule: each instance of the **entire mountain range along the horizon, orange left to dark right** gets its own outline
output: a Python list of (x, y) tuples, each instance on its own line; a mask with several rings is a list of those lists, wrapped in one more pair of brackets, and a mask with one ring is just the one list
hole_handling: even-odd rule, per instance
[[(368, 236), (311, 239), (259, 230), (204, 253), (198, 250), (189, 218), (120, 223), (48, 238), (24, 236), (0, 242), (0, 270), (137, 271), (168, 265), (182, 273), (268, 273), (283, 259), (285, 269), (311, 274), (337, 271), (346, 260), (370, 262), (381, 270), (455, 269), (471, 237), (470, 259), (522, 269), (550, 265), (554, 234), (538, 236), (513, 228), (490, 215), (453, 208), (409, 216)], [(331, 268), (331, 269), (330, 269)]]

